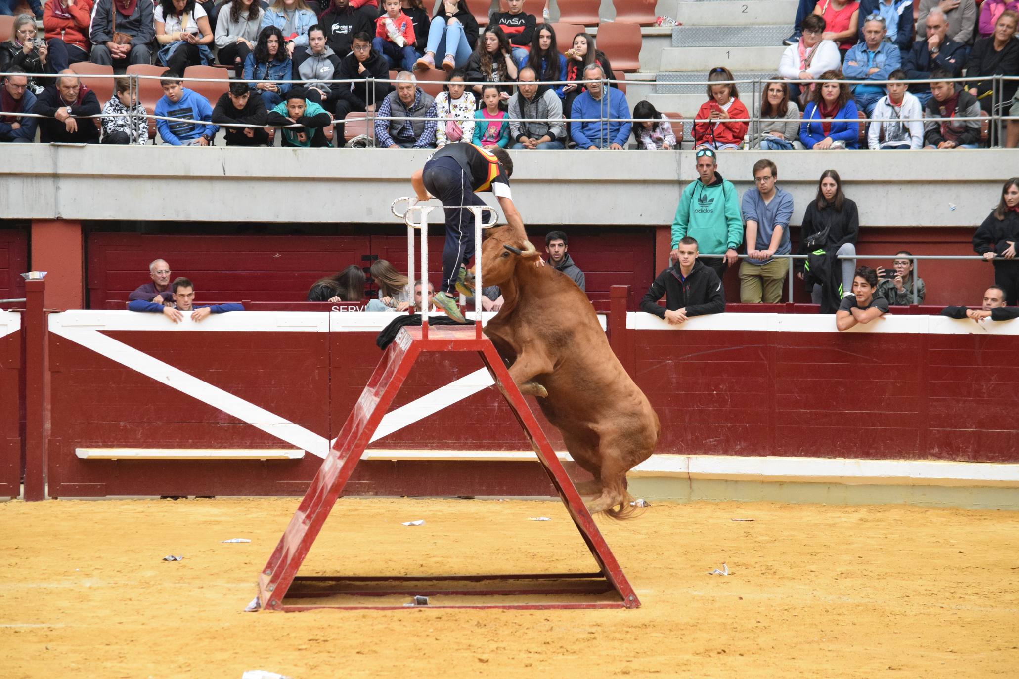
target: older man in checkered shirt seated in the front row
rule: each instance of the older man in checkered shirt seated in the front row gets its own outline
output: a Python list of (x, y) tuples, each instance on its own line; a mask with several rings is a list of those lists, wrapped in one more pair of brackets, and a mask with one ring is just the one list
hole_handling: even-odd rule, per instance
[(430, 149), (435, 146), (435, 100), (418, 87), (414, 73), (405, 70), (396, 75), (396, 92), (382, 100), (378, 116), (375, 139), (380, 148)]

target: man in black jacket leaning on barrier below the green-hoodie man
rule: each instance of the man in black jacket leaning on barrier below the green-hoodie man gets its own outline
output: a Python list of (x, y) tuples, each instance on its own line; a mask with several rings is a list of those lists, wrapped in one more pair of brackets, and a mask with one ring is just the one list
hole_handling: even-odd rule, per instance
[[(640, 310), (654, 314), (678, 326), (695, 316), (726, 310), (726, 293), (718, 275), (697, 259), (697, 240), (684, 236), (677, 244), (679, 257), (651, 283), (640, 301)], [(665, 296), (665, 307), (658, 305)]]

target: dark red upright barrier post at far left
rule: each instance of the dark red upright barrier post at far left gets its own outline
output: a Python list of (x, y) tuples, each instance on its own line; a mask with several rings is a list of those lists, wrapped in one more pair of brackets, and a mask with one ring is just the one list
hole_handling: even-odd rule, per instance
[(46, 281), (25, 280), (24, 297), (24, 500), (37, 502), (46, 499), (49, 437)]

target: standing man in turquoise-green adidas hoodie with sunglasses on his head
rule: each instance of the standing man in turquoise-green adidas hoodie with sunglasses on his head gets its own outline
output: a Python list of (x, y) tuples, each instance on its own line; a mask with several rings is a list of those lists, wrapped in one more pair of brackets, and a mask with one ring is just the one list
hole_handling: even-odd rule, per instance
[(702, 259), (714, 269), (721, 279), (726, 267), (736, 264), (736, 250), (743, 242), (743, 218), (740, 216), (740, 196), (733, 182), (721, 178), (717, 172), (718, 161), (714, 151), (697, 152), (697, 174), (683, 189), (680, 207), (673, 221), (673, 251), (669, 260), (679, 259), (679, 242), (683, 236), (693, 236), (700, 245), (701, 254), (725, 254), (722, 258)]

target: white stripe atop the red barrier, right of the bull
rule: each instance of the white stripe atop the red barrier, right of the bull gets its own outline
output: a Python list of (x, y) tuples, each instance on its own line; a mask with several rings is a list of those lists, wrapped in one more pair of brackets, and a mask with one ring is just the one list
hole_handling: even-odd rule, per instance
[[(646, 312), (627, 313), (628, 330), (744, 330), (753, 332), (838, 333), (834, 315), (820, 314), (711, 314), (695, 316), (672, 326)], [(912, 333), (920, 335), (1019, 335), (1019, 323), (1011, 321), (956, 320), (945, 316), (898, 316), (887, 314), (846, 333)]]

